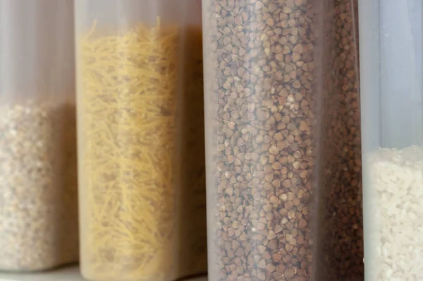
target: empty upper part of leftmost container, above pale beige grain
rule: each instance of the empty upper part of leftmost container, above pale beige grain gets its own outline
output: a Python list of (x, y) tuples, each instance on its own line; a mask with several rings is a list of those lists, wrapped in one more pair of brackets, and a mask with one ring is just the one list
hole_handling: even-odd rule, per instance
[(73, 1), (0, 1), (0, 100), (75, 99)]

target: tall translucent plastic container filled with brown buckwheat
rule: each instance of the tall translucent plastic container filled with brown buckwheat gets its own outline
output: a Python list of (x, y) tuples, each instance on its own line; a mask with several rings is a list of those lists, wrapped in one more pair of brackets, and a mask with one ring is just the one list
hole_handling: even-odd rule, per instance
[(203, 1), (209, 280), (360, 280), (354, 2)]

